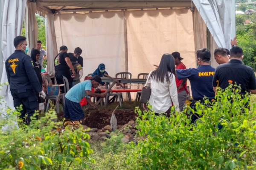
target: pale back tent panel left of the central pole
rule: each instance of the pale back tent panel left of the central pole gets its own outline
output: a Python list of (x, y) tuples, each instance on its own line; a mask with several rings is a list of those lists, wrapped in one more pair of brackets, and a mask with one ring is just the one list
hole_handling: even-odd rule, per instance
[(109, 75), (125, 72), (125, 35), (123, 12), (56, 14), (54, 16), (57, 47), (68, 52), (80, 47), (84, 75), (93, 73), (104, 63)]

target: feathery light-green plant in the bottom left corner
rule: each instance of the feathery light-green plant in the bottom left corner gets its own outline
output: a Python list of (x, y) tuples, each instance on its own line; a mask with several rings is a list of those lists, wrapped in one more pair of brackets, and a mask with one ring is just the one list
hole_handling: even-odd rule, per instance
[[(15, 115), (19, 113), (8, 109), (9, 119), (1, 119), (0, 127), (12, 126)], [(50, 118), (50, 114), (45, 118)], [(3, 121), (4, 120), (4, 121)], [(46, 119), (44, 119), (46, 120)], [(21, 120), (18, 120), (19, 122)], [(41, 169), (42, 164), (52, 164), (52, 161), (41, 153), (40, 136), (54, 127), (49, 123), (47, 127), (42, 127), (35, 118), (31, 126), (20, 123), (20, 128), (15, 126), (11, 130), (1, 130), (0, 136), (0, 169), (15, 167), (16, 169)]]

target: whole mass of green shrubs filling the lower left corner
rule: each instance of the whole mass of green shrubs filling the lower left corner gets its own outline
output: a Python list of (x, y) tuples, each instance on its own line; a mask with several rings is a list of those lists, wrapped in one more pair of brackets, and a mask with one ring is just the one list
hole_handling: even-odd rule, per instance
[[(4, 104), (2, 98), (0, 103)], [(4, 114), (6, 113), (6, 114)], [(11, 108), (0, 112), (0, 169), (3, 170), (68, 170), (84, 169), (93, 150), (78, 122), (53, 122), (55, 112), (46, 113), (39, 120), (32, 118), (29, 126), (15, 126), (20, 113)], [(38, 114), (38, 113), (36, 113)], [(3, 127), (9, 127), (3, 130)]]

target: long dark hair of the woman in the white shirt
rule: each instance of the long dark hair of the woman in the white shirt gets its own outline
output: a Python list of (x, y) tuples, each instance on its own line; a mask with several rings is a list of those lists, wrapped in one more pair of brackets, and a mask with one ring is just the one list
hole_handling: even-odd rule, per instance
[[(167, 83), (170, 83), (169, 73), (175, 75), (175, 61), (172, 55), (166, 53), (162, 56), (160, 64), (156, 70), (151, 72), (150, 78), (156, 79), (157, 82), (164, 82), (164, 78), (166, 78)], [(172, 78), (171, 74), (171, 78)]]

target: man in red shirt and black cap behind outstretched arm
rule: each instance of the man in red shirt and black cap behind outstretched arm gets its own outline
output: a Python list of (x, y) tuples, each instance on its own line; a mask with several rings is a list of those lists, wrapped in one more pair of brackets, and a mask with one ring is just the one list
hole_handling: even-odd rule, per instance
[[(180, 57), (179, 52), (173, 52), (172, 56), (174, 57), (175, 61), (175, 69), (186, 69), (186, 66), (181, 62), (183, 58)], [(177, 86), (177, 92), (178, 92), (178, 101), (179, 101), (179, 107), (182, 111), (183, 106), (186, 102), (187, 95), (189, 94), (187, 88), (186, 88), (186, 81), (188, 79), (185, 78), (183, 80), (178, 80), (176, 77), (176, 86)]]

